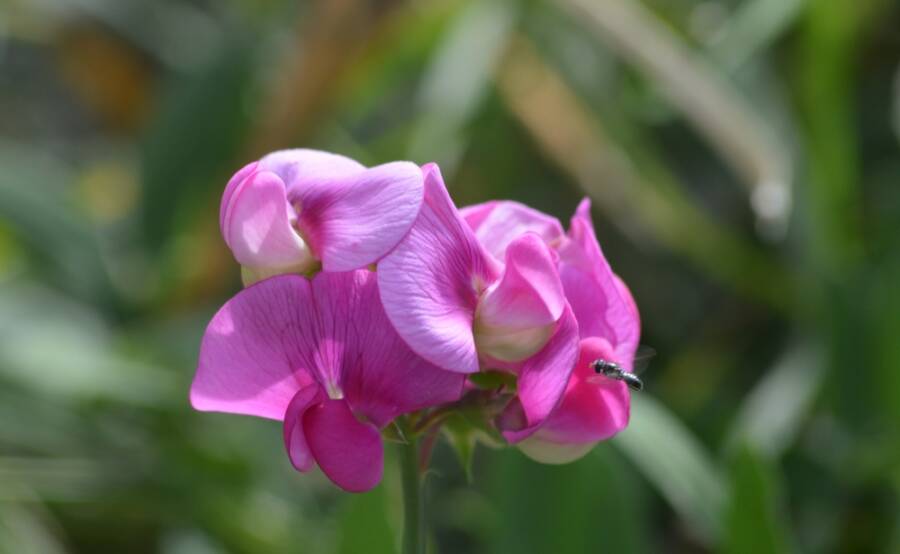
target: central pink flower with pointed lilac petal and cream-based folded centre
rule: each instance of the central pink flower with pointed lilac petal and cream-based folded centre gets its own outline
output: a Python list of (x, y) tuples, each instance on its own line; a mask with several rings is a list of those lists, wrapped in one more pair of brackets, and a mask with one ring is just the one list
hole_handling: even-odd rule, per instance
[(521, 417), (504, 431), (522, 440), (556, 407), (578, 352), (557, 255), (535, 232), (491, 254), (457, 212), (438, 167), (422, 171), (419, 217), (378, 264), (385, 311), (407, 344), (440, 367), (517, 374)]

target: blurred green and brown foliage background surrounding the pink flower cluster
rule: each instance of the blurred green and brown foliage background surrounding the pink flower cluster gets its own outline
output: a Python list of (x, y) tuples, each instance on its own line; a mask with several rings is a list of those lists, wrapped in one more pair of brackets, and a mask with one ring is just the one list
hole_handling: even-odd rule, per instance
[[(900, 551), (900, 5), (0, 6), (0, 552), (392, 552), (399, 478), (192, 412), (260, 153), (438, 161), (601, 242), (659, 352), (567, 466), (447, 443), (434, 552)], [(464, 437), (465, 439), (465, 437)], [(467, 439), (466, 439), (467, 440)]]

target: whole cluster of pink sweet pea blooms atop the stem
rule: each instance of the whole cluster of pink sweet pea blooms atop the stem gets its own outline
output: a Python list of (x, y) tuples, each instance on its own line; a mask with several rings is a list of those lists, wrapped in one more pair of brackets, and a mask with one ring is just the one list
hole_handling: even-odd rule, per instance
[(220, 225), (247, 288), (206, 330), (191, 403), (282, 421), (299, 471), (374, 487), (401, 416), (427, 432), (474, 408), (548, 463), (628, 424), (592, 362), (630, 371), (640, 322), (587, 200), (566, 232), (516, 202), (457, 209), (434, 164), (288, 150), (235, 174)]

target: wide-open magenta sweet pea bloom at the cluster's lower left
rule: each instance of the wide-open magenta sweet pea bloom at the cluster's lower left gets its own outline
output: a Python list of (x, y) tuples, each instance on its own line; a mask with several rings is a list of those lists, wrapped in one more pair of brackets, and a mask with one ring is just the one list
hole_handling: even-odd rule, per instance
[(213, 317), (191, 404), (283, 421), (294, 467), (318, 465), (338, 486), (381, 480), (379, 430), (453, 402), (465, 376), (414, 354), (394, 331), (368, 270), (282, 275), (239, 292)]

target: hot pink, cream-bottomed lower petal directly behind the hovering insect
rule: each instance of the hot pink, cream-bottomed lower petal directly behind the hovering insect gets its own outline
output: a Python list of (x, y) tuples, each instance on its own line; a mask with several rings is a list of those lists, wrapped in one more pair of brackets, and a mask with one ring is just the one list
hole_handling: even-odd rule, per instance
[[(571, 461), (628, 425), (630, 396), (621, 381), (598, 378), (591, 362), (614, 356), (605, 339), (581, 341), (578, 363), (559, 407), (528, 441), (525, 452), (538, 461)], [(573, 448), (581, 445), (583, 448)]]

